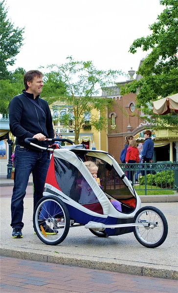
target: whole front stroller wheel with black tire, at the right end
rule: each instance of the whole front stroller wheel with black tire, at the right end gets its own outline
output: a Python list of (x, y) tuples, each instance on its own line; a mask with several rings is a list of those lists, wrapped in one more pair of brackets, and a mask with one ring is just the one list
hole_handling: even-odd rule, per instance
[[(139, 243), (145, 247), (155, 248), (160, 246), (168, 234), (168, 223), (164, 214), (155, 207), (143, 207), (134, 216), (134, 223), (150, 223), (150, 226), (134, 227), (134, 235)], [(151, 224), (156, 222), (156, 224)]]

